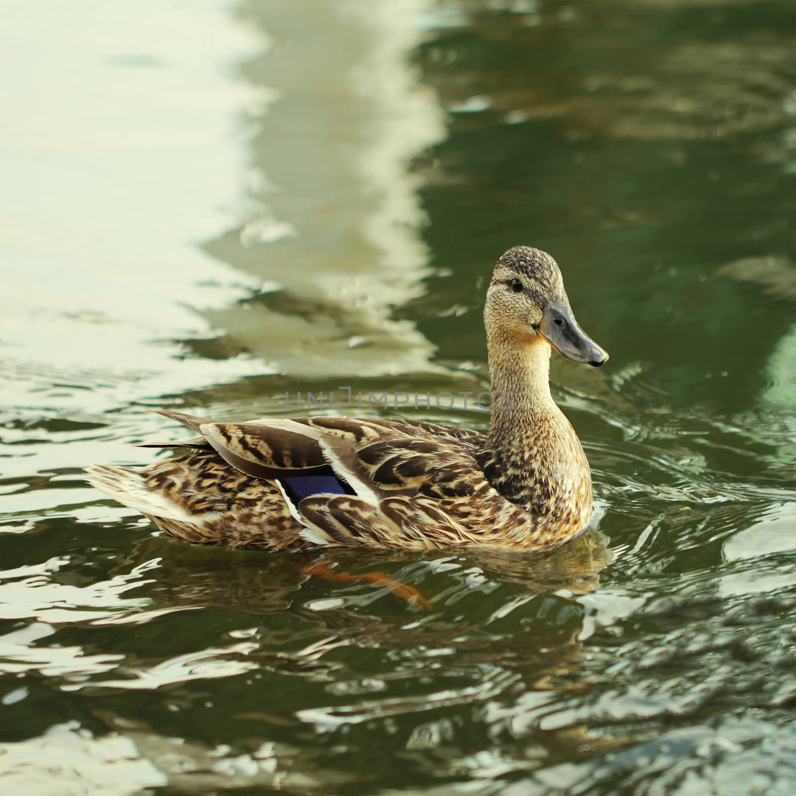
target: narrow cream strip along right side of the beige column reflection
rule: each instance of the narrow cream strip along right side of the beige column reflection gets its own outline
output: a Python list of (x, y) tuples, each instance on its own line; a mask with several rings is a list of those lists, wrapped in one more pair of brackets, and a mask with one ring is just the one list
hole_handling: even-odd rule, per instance
[(354, 87), (372, 103), (374, 135), (358, 156), (365, 191), (378, 201), (362, 221), (365, 238), (380, 252), (380, 270), (359, 275), (350, 286), (336, 288), (343, 301), (356, 302), (366, 323), (385, 330), (402, 347), (413, 349), (407, 369), (427, 369), (433, 346), (410, 321), (396, 321), (391, 307), (423, 292), (421, 279), (428, 259), (419, 236), (425, 213), (419, 206), (420, 178), (408, 164), (423, 150), (444, 138), (444, 116), (430, 88), (417, 81), (408, 54), (419, 45), (418, 21), (427, 13), (428, 0), (381, 0), (363, 4), (349, 0), (345, 11), (367, 30), (373, 47), (353, 75)]

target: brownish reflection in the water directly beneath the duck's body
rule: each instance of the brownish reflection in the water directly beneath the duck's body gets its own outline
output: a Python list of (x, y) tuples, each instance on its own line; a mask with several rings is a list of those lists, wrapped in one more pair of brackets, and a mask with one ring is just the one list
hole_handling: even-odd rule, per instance
[[(379, 572), (423, 596), (428, 607), (417, 626), (425, 627), (428, 622), (450, 621), (460, 600), (501, 585), (516, 587), (523, 601), (561, 590), (573, 595), (592, 591), (613, 557), (608, 542), (603, 533), (591, 530), (548, 553), (463, 545), (425, 553), (346, 548), (263, 553), (147, 537), (135, 544), (124, 569), (160, 559), (157, 578), (142, 584), (144, 591), (136, 595), (175, 608), (230, 607), (255, 614), (290, 609), (322, 621), (336, 609), (351, 612), (378, 605), (389, 611), (380, 614), (381, 620), (394, 615), (396, 622), (406, 622), (412, 617), (412, 600), (369, 577)], [(327, 579), (325, 573), (342, 576)], [(489, 603), (494, 607), (494, 600)], [(353, 621), (368, 615), (351, 614)], [(451, 630), (458, 633), (468, 627), (456, 624)]]

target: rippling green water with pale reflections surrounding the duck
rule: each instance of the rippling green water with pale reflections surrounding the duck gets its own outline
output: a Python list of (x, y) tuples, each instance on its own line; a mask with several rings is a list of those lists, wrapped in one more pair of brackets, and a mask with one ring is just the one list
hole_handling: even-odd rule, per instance
[[(4, 17), (0, 794), (793, 792), (790, 2)], [(82, 481), (150, 408), (483, 384), (513, 244), (611, 353), (554, 361), (602, 513), (554, 555), (324, 554), (420, 612)]]

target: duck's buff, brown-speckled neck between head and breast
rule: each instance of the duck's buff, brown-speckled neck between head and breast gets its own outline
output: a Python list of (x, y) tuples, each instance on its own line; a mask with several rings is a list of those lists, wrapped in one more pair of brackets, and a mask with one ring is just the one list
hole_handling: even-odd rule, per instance
[(571, 429), (550, 395), (550, 346), (494, 330), (487, 330), (487, 344), (494, 403), (484, 470), (509, 500), (531, 505), (544, 482), (555, 482), (548, 464), (560, 458)]

